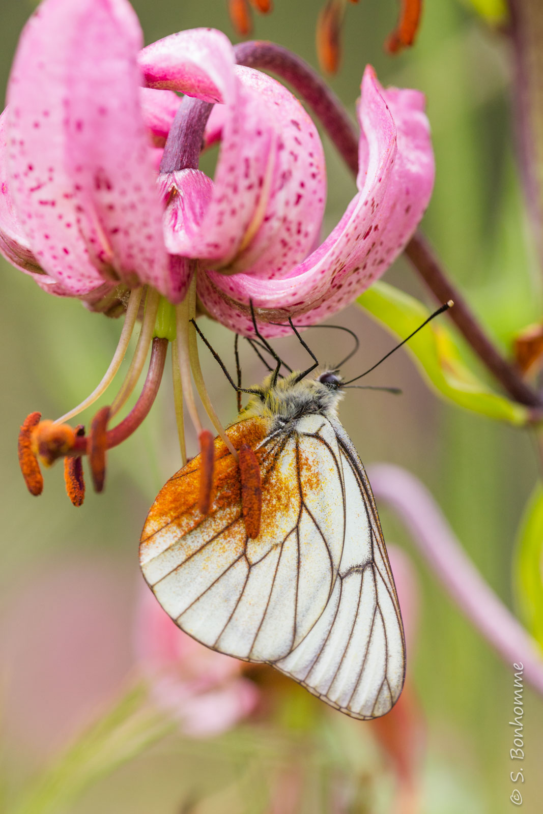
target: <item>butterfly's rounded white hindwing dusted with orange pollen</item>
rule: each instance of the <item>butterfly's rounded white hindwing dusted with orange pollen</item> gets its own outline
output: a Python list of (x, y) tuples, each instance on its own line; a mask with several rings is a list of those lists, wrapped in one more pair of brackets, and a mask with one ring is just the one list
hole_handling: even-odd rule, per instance
[(326, 424), (327, 445), (296, 431), (266, 440), (262, 419), (230, 427), (234, 446), (250, 444), (261, 465), (256, 539), (247, 538), (239, 470), (221, 440), (207, 516), (197, 507), (198, 457), (173, 475), (151, 508), (140, 545), (143, 575), (176, 624), (214, 650), (248, 661), (282, 659), (330, 601), (344, 502), (335, 433), (322, 418), (304, 421), (317, 418)]

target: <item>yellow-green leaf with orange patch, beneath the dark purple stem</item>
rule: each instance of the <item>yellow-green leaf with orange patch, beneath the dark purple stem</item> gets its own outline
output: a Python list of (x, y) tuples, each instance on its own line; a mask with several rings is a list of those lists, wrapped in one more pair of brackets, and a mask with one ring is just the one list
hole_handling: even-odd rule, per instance
[[(405, 339), (430, 316), (422, 303), (385, 282), (374, 282), (357, 303), (399, 339)], [(518, 427), (528, 422), (527, 408), (490, 390), (466, 367), (442, 318), (409, 339), (405, 348), (444, 399)]]

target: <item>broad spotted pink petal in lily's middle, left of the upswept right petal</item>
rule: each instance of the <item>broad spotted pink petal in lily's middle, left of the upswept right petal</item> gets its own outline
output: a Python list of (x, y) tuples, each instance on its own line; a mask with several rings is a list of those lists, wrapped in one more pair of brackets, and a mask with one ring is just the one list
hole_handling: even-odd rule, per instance
[[(235, 78), (235, 102), (217, 106), (220, 116), (212, 113), (206, 131), (210, 142), (221, 134), (221, 149), (200, 229), (176, 230), (168, 220), (166, 244), (227, 274), (279, 278), (309, 253), (320, 229), (322, 144), (304, 108), (277, 81), (239, 66)], [(199, 195), (186, 185), (186, 199), (191, 192)]]

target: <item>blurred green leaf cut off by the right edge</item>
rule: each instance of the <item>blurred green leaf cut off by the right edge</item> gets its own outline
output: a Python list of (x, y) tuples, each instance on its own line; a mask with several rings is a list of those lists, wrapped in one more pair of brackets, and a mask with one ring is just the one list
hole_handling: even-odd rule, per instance
[(543, 647), (543, 486), (536, 484), (520, 523), (515, 550), (515, 595), (520, 614)]

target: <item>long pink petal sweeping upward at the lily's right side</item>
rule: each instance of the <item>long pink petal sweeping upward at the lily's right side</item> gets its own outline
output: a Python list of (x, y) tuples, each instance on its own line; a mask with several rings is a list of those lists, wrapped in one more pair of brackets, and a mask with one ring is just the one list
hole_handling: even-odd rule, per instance
[(199, 274), (204, 307), (232, 330), (252, 333), (247, 305), (259, 309), (266, 335), (289, 329), (264, 323), (304, 315), (318, 322), (352, 302), (392, 263), (413, 234), (430, 199), (434, 162), (423, 96), (383, 91), (373, 68), (362, 80), (359, 120), (360, 192), (329, 237), (287, 278)]

